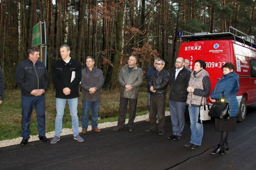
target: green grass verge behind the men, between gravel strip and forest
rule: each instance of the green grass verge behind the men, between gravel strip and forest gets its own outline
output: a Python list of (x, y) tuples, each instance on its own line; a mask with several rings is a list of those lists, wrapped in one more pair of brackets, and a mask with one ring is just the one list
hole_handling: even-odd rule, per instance
[[(168, 96), (168, 94), (166, 95)], [(48, 89), (45, 94), (45, 126), (46, 133), (55, 130), (55, 91), (53, 89)], [(166, 100), (166, 106), (168, 106), (168, 97)], [(129, 109), (129, 107), (128, 107)], [(166, 108), (168, 110), (168, 108)], [(119, 110), (119, 90), (113, 90), (112, 92), (103, 91), (102, 101), (99, 106), (99, 117), (98, 123), (103, 122), (115, 122), (118, 119)], [(127, 112), (128, 113), (128, 112)], [(140, 88), (139, 98), (137, 103), (136, 115), (144, 115), (148, 113), (148, 94), (146, 88)], [(81, 116), (82, 116), (82, 102), (81, 102), (81, 92), (78, 98), (78, 118), (79, 126), (81, 126)], [(91, 112), (89, 113), (89, 119)], [(126, 118), (129, 114), (126, 115)], [(90, 122), (89, 122), (90, 125)], [(69, 114), (68, 103), (66, 104), (62, 128), (72, 128), (71, 116)], [(31, 123), (30, 123), (30, 135), (38, 135), (37, 131), (37, 120), (35, 109), (32, 113)], [(17, 90), (5, 90), (4, 100), (0, 105), (0, 141), (6, 139), (14, 139), (20, 137), (21, 132), (21, 92), (20, 89)]]

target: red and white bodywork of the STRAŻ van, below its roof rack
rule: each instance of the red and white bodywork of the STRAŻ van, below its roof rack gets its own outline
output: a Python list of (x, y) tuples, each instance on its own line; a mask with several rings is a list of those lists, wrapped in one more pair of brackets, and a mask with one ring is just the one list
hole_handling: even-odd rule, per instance
[[(206, 62), (206, 71), (209, 72), (211, 91), (214, 89), (217, 78), (223, 75), (222, 66), (226, 62), (235, 65), (235, 72), (239, 74), (240, 89), (237, 92), (238, 101), (242, 97), (247, 104), (256, 103), (256, 78), (251, 77), (250, 60), (256, 59), (256, 49), (234, 40), (201, 40), (182, 42), (178, 57), (190, 60), (190, 69), (194, 70), (196, 60)], [(253, 62), (256, 70), (256, 60)], [(239, 101), (239, 102), (240, 102)]]

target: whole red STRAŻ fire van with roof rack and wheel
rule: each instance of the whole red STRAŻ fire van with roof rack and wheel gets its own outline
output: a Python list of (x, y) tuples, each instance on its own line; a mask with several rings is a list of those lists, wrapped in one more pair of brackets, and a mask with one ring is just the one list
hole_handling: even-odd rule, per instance
[[(221, 66), (225, 62), (235, 65), (235, 72), (239, 74), (240, 89), (237, 92), (239, 112), (237, 121), (243, 121), (248, 104), (256, 103), (256, 46), (255, 39), (235, 28), (230, 27), (226, 33), (195, 33), (182, 35), (178, 57), (190, 60), (190, 69), (194, 70), (195, 60), (206, 62), (212, 89), (217, 78), (223, 75)], [(212, 90), (211, 89), (211, 90)]]

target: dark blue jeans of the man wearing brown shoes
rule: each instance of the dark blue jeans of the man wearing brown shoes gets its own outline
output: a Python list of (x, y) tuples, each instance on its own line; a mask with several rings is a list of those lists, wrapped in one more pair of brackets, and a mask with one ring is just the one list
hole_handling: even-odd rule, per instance
[(92, 109), (91, 125), (92, 129), (98, 127), (97, 120), (99, 115), (99, 101), (82, 101), (82, 129), (87, 129), (89, 124), (89, 111)]

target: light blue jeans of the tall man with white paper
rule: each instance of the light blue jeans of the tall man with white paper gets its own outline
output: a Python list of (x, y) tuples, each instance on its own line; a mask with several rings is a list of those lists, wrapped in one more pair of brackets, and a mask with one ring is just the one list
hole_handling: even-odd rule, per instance
[(62, 131), (62, 118), (64, 115), (66, 101), (69, 102), (69, 110), (70, 110), (70, 115), (71, 115), (71, 119), (72, 119), (73, 135), (76, 136), (79, 134), (79, 124), (78, 124), (78, 116), (77, 116), (78, 98), (71, 98), (71, 99), (56, 98), (57, 115), (56, 115), (56, 119), (55, 119), (55, 134), (54, 134), (54, 136), (60, 137), (60, 133)]

